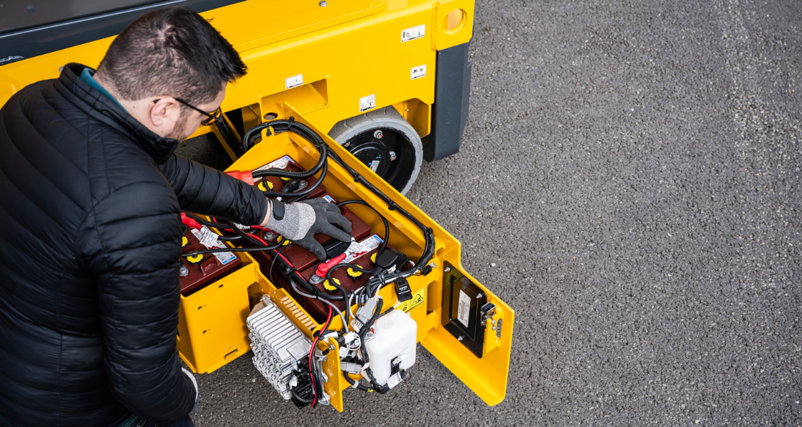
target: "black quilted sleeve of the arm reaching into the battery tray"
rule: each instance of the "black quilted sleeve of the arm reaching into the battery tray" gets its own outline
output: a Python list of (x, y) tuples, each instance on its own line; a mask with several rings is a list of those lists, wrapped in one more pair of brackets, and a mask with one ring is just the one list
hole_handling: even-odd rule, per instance
[(239, 179), (181, 155), (172, 155), (160, 167), (182, 209), (245, 225), (265, 219), (265, 195)]

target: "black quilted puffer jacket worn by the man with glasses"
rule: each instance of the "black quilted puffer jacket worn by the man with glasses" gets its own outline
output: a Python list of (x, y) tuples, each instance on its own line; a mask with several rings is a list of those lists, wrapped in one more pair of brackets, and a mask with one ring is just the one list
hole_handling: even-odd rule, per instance
[(180, 209), (265, 197), (173, 154), (68, 64), (0, 110), (0, 425), (155, 422), (195, 400), (176, 355)]

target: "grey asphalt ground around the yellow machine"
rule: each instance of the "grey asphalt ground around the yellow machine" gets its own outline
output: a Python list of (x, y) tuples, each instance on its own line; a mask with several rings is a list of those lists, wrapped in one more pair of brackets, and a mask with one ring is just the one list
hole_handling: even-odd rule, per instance
[(802, 424), (800, 22), (796, 1), (478, 1), (462, 151), (408, 196), (516, 309), (506, 399), (419, 347), (391, 393), (298, 410), (248, 356), (199, 377), (196, 425)]

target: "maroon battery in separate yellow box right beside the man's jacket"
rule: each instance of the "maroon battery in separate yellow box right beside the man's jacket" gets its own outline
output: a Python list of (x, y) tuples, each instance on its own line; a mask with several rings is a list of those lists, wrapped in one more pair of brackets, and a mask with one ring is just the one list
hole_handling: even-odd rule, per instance
[[(225, 248), (216, 234), (206, 226), (200, 230), (191, 228), (181, 237), (181, 253), (204, 251), (210, 248)], [(201, 239), (204, 241), (201, 243)], [(207, 253), (197, 256), (181, 257), (179, 284), (181, 295), (189, 296), (208, 284), (236, 270), (242, 263), (232, 252)]]

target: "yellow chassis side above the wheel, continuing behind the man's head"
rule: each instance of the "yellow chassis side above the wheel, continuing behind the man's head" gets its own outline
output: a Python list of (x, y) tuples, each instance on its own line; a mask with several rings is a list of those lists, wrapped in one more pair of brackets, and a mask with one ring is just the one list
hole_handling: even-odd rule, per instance
[[(290, 103), (327, 132), (340, 120), (393, 105), (420, 136), (428, 135), (435, 53), (471, 39), (473, 0), (328, 3), (248, 0), (202, 14), (249, 68), (227, 88), (223, 111), (242, 109), (249, 127), (268, 113), (286, 118), (284, 105)], [(452, 11), (458, 22), (455, 14), (448, 17)], [(422, 37), (402, 42), (403, 30), (421, 26)], [(112, 39), (0, 66), (0, 105), (30, 83), (55, 79), (67, 62), (98, 66)], [(412, 79), (411, 69), (422, 65), (426, 75)], [(288, 89), (287, 79), (298, 75), (302, 85)], [(375, 108), (360, 110), (359, 100), (370, 95)], [(209, 131), (201, 127), (193, 136)]]

